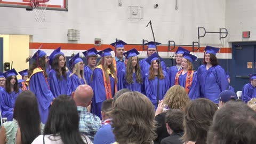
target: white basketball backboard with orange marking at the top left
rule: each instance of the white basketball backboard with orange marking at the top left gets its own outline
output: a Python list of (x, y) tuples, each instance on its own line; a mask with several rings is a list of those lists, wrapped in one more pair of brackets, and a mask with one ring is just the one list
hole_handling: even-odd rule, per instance
[[(0, 0), (0, 6), (33, 9), (30, 0)], [(50, 0), (46, 10), (68, 11), (68, 0)]]

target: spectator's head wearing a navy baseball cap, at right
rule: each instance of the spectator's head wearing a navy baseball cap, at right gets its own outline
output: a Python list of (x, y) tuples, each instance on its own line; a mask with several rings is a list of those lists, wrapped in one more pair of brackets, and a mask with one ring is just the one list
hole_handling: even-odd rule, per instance
[(237, 96), (233, 91), (230, 90), (225, 90), (222, 91), (219, 95), (219, 107), (223, 107), (223, 105), (225, 105), (225, 103), (227, 103), (228, 101), (236, 101)]

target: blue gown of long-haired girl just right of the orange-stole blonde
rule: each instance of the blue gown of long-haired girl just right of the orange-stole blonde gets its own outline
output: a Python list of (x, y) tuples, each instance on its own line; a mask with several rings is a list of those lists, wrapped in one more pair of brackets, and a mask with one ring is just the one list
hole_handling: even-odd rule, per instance
[[(126, 69), (122, 69), (121, 71), (121, 74), (119, 76), (119, 79), (118, 79), (118, 90), (121, 90), (121, 89), (129, 89), (129, 90), (132, 90), (132, 91), (138, 91), (140, 93), (143, 93), (143, 82), (142, 83), (138, 83), (136, 81), (136, 74), (133, 73), (132, 76), (133, 76), (133, 82), (134, 83), (131, 83), (131, 84), (128, 84), (126, 82), (126, 78), (125, 78), (125, 74), (126, 74)], [(143, 78), (143, 75), (141, 74), (142, 76), (142, 80), (144, 79)]]

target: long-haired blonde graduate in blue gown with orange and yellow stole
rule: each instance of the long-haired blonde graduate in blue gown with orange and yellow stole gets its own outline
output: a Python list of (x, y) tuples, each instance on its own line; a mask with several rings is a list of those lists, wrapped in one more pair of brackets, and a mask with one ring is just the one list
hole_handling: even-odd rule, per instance
[(91, 87), (94, 92), (91, 111), (101, 118), (102, 102), (112, 99), (117, 92), (117, 76), (111, 55), (112, 49), (108, 48), (98, 52), (101, 59), (93, 70)]

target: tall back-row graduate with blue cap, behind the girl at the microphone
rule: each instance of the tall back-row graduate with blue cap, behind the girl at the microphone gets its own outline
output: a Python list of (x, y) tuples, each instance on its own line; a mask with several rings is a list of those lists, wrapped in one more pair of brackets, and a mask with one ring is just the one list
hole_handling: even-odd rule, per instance
[[(159, 44), (161, 44), (161, 43), (156, 42), (156, 45), (159, 45)], [(148, 45), (147, 57), (150, 57), (150, 55), (152, 55), (153, 53), (156, 52), (155, 42), (148, 42), (145, 45)], [(142, 74), (147, 74), (149, 72), (150, 64), (148, 64), (146, 59), (147, 58), (140, 60), (140, 68), (141, 68)], [(161, 65), (162, 65), (163, 71), (167, 71), (164, 61), (161, 61)]]

